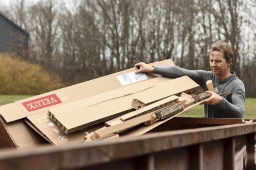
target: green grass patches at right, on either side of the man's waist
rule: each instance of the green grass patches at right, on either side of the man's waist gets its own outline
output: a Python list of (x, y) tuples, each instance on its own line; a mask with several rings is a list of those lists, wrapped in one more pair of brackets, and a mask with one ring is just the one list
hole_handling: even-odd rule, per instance
[[(256, 98), (245, 99), (245, 112), (243, 118), (256, 119)], [(204, 105), (197, 105), (186, 112), (179, 115), (179, 117), (204, 117)]]

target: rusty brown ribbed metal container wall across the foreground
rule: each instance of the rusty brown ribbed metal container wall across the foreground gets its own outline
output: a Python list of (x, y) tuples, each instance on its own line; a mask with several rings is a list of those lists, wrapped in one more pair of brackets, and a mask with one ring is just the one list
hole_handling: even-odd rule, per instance
[[(181, 118), (180, 121), (191, 123), (191, 119)], [(232, 124), (230, 120), (231, 125), (222, 125), (223, 119), (212, 119), (203, 120), (201, 125), (207, 125), (207, 121), (211, 127), (151, 132), (138, 137), (66, 147), (2, 150), (0, 167), (91, 170), (255, 169), (256, 123)]]

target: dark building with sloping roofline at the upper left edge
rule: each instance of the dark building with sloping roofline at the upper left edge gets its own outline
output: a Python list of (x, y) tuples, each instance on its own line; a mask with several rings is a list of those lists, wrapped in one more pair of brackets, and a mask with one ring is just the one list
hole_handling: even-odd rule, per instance
[(0, 53), (20, 52), (28, 48), (29, 34), (0, 13)]

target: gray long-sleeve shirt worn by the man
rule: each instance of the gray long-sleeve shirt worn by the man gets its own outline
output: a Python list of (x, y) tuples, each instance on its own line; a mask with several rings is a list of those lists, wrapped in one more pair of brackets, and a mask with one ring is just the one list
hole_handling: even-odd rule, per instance
[(212, 71), (188, 70), (178, 66), (154, 67), (155, 74), (168, 78), (178, 78), (188, 76), (199, 84), (203, 90), (208, 90), (207, 80), (212, 80), (214, 87), (217, 87), (219, 93), (231, 91), (231, 94), (223, 96), (218, 105), (204, 105), (205, 117), (214, 118), (242, 118), (244, 115), (245, 87), (244, 83), (231, 72), (232, 75), (225, 80), (218, 80)]

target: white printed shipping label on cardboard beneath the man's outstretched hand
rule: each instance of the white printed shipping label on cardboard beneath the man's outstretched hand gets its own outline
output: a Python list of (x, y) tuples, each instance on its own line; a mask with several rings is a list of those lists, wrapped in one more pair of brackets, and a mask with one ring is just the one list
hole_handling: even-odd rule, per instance
[(125, 86), (125, 85), (136, 83), (136, 82), (139, 82), (139, 81), (142, 81), (142, 80), (147, 80), (147, 77), (144, 74), (144, 72), (140, 72), (139, 74), (135, 74), (135, 71), (133, 71), (133, 72), (129, 72), (129, 73), (124, 74), (124, 75), (117, 76), (117, 79), (122, 84), (122, 86)]

